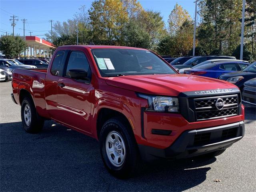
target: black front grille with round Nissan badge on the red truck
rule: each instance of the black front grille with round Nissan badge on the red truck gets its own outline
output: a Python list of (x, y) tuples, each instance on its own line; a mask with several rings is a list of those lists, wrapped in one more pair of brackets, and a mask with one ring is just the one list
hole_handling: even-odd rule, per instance
[[(217, 106), (221, 103), (224, 106)], [(238, 95), (194, 99), (195, 120), (208, 120), (238, 115)]]

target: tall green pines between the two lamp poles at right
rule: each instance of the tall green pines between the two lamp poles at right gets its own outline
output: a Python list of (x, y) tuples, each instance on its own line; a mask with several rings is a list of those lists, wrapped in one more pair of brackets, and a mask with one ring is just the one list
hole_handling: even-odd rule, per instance
[(232, 54), (240, 40), (242, 1), (201, 0), (199, 8), (202, 20), (198, 28), (199, 45), (208, 52), (218, 49)]

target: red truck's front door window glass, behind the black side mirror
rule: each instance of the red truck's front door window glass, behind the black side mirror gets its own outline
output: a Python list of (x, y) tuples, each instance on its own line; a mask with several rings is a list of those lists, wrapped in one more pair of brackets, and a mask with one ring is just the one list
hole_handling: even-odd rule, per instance
[(68, 58), (68, 65), (66, 68), (65, 76), (69, 77), (70, 69), (84, 69), (90, 76), (90, 67), (85, 54), (81, 51), (72, 51)]

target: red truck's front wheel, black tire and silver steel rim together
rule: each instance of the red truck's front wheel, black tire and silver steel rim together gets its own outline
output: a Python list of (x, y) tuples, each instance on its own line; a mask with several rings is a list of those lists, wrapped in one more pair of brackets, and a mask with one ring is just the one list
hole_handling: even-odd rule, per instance
[(122, 118), (110, 119), (103, 125), (100, 153), (107, 170), (117, 178), (129, 178), (136, 173), (138, 146), (130, 126)]

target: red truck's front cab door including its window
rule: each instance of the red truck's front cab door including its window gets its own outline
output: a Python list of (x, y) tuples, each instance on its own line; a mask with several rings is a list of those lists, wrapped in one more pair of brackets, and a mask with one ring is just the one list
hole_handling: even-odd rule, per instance
[(70, 50), (62, 76), (58, 79), (57, 120), (77, 130), (91, 134), (91, 103), (93, 86), (90, 80), (75, 80), (70, 69), (83, 69), (91, 79), (91, 70), (84, 50)]

